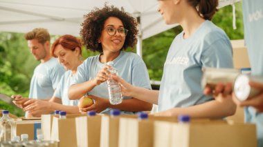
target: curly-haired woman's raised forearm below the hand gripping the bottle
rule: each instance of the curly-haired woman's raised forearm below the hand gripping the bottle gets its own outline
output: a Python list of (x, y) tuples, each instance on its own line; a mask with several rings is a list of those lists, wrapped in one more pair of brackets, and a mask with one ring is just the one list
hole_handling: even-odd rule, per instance
[(69, 99), (80, 99), (92, 90), (96, 86), (96, 83), (93, 80), (86, 81), (82, 84), (75, 84), (69, 88)]

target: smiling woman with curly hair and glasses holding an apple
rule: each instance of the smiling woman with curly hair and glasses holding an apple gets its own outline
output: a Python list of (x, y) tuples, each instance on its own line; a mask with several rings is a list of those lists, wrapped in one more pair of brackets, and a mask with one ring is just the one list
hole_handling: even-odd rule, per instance
[(73, 86), (69, 88), (69, 99), (80, 98), (83, 95), (95, 100), (95, 104), (80, 109), (82, 112), (96, 110), (108, 113), (111, 108), (123, 110), (125, 113), (151, 110), (152, 104), (123, 97), (118, 105), (109, 103), (107, 90), (107, 76), (109, 71), (107, 62), (113, 61), (114, 68), (120, 77), (129, 84), (141, 88), (151, 89), (149, 75), (143, 59), (132, 52), (125, 52), (128, 47), (133, 48), (138, 34), (137, 23), (134, 17), (114, 6), (95, 8), (84, 16), (80, 35), (89, 50), (98, 51), (100, 55), (88, 57), (78, 68)]

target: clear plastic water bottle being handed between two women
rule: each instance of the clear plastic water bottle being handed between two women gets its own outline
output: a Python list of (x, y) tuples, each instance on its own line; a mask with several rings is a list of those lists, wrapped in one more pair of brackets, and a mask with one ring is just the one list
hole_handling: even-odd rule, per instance
[[(107, 65), (111, 66), (109, 68), (109, 72), (111, 75), (118, 75), (118, 71), (114, 68), (114, 62), (110, 61)], [(120, 85), (117, 81), (112, 79), (111, 77), (107, 80), (108, 90), (109, 90), (109, 102), (112, 105), (120, 104), (123, 101), (123, 95), (121, 93)]]

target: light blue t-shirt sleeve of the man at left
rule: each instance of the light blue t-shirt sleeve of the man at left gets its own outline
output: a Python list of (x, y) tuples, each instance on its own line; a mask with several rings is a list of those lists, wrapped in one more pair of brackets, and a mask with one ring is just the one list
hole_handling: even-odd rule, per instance
[(51, 70), (51, 81), (54, 90), (57, 88), (57, 85), (59, 84), (62, 75), (64, 75), (64, 72), (65, 70), (62, 66), (60, 66), (60, 64), (57, 64), (57, 66)]

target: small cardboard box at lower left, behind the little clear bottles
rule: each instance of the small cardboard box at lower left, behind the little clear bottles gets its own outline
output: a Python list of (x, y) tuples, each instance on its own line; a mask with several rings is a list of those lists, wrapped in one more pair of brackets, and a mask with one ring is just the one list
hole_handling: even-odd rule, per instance
[(16, 134), (20, 136), (21, 134), (28, 134), (28, 139), (37, 139), (38, 134), (41, 132), (41, 121), (15, 121)]

